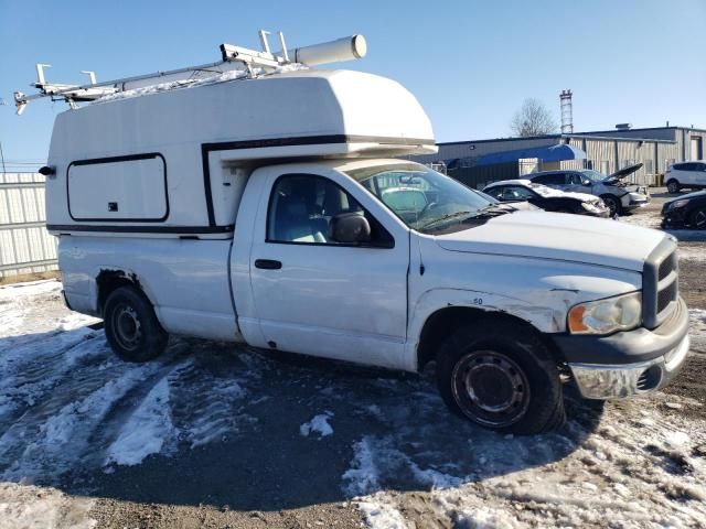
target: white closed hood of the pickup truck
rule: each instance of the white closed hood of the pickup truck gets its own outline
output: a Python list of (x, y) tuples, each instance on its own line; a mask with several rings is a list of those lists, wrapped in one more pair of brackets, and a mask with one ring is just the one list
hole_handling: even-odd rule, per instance
[(556, 259), (641, 272), (665, 238), (656, 229), (625, 223), (545, 212), (515, 212), (474, 228), (440, 235), (446, 250)]

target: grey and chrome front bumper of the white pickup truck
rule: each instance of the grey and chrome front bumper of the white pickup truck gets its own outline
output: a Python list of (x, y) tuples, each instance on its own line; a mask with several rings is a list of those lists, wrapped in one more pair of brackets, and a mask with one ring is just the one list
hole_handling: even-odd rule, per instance
[(688, 311), (682, 299), (659, 327), (610, 336), (557, 335), (582, 397), (616, 399), (664, 387), (680, 371), (689, 348)]

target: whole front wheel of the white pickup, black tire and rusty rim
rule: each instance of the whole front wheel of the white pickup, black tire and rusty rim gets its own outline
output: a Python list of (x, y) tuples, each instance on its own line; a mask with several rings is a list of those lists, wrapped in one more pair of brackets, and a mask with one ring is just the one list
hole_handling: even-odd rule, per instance
[(484, 319), (456, 331), (438, 350), (437, 384), (451, 411), (490, 430), (527, 435), (566, 420), (555, 360), (531, 328), (512, 321)]

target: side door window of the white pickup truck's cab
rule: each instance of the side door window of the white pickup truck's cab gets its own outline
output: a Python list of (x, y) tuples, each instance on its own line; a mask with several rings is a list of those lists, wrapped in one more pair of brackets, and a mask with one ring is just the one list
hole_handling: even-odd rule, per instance
[(367, 219), (372, 246), (394, 246), (392, 235), (353, 196), (334, 182), (311, 174), (286, 174), (275, 182), (267, 212), (267, 241), (341, 246), (331, 237), (331, 222), (345, 214)]

